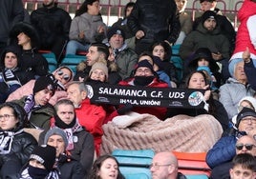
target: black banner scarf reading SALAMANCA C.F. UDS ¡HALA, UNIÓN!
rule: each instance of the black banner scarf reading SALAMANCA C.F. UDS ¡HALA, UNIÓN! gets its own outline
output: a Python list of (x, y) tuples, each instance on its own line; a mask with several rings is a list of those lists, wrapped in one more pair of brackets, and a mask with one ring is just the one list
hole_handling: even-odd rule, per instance
[(86, 83), (91, 103), (203, 109), (203, 89), (171, 89)]

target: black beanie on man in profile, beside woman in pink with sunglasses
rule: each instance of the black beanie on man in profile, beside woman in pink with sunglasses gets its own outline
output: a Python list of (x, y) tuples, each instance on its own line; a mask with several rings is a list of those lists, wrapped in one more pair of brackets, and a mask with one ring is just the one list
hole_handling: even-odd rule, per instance
[(34, 83), (32, 92), (35, 94), (36, 92), (43, 90), (43, 89), (49, 89), (53, 91), (53, 94), (56, 89), (56, 84), (54, 82), (53, 75), (47, 75), (47, 76), (40, 76)]

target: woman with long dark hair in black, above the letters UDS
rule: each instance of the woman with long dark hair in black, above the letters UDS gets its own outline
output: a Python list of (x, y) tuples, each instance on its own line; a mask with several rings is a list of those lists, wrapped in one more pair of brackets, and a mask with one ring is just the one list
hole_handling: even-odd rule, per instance
[[(154, 56), (160, 57), (160, 60), (163, 62), (163, 70), (171, 79), (172, 87), (175, 87), (178, 85), (178, 75), (176, 71), (176, 67), (171, 61), (172, 56), (172, 48), (168, 45), (168, 43), (161, 41), (156, 42), (152, 46), (152, 54)], [(141, 54), (140, 54), (141, 56)]]

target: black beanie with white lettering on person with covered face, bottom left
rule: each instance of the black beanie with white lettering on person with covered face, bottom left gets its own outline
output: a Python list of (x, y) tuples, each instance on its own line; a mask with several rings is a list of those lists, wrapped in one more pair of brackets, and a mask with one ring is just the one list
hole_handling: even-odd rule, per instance
[(53, 169), (56, 158), (56, 149), (52, 146), (37, 146), (32, 150), (30, 159), (40, 162), (48, 171)]

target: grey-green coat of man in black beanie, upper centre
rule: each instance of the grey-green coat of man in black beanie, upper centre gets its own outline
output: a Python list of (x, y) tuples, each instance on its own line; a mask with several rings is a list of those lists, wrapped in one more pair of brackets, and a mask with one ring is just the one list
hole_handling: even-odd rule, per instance
[(131, 76), (138, 62), (138, 54), (129, 48), (121, 50), (115, 57), (118, 66), (118, 74), (124, 80)]

